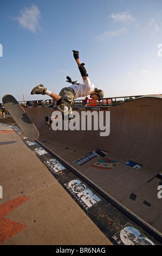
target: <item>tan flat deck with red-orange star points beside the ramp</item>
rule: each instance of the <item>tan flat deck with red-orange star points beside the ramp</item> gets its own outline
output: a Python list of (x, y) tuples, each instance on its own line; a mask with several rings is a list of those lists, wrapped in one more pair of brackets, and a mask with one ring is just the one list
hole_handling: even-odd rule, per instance
[(0, 244), (112, 245), (20, 136), (0, 125)]

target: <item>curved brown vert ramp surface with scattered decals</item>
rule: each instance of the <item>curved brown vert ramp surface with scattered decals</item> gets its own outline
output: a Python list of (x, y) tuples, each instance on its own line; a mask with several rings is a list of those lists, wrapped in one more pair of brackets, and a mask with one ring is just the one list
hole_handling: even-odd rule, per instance
[[(81, 116), (92, 108), (75, 108)], [(45, 116), (56, 109), (26, 108), (39, 141), (158, 233), (162, 233), (162, 95), (142, 96), (109, 111), (110, 133), (47, 130)], [(93, 120), (92, 120), (93, 123)], [(93, 157), (94, 154), (94, 157)]]

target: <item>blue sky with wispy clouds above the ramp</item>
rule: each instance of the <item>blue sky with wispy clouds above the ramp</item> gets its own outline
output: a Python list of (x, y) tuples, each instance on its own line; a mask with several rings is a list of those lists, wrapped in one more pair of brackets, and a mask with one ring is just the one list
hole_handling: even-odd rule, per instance
[(0, 102), (81, 83), (72, 50), (105, 97), (162, 93), (161, 11), (161, 0), (0, 0)]

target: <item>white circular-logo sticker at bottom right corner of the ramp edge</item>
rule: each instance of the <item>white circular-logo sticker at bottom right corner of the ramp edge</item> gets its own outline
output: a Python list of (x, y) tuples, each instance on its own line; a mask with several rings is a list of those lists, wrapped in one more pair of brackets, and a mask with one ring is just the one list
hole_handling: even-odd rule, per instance
[(127, 223), (121, 230), (119, 230), (113, 239), (119, 245), (154, 245), (154, 243), (142, 234), (132, 224)]

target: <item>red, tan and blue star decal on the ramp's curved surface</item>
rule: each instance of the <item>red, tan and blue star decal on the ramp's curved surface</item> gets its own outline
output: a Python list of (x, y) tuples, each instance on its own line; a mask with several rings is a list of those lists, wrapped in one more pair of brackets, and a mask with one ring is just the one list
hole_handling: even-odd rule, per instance
[(96, 161), (95, 163), (93, 163), (91, 167), (109, 170), (109, 169), (112, 169), (113, 167), (115, 167), (116, 164), (118, 164), (118, 162), (116, 162), (114, 160), (102, 158), (102, 159), (99, 159), (98, 161)]

